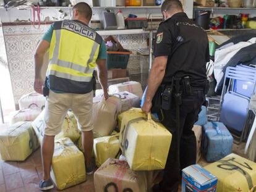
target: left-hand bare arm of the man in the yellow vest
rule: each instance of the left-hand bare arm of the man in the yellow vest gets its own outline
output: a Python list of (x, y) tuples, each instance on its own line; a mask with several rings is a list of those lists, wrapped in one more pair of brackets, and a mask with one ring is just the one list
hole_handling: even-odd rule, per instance
[(41, 40), (34, 54), (35, 61), (35, 79), (41, 79), (41, 68), (43, 66), (43, 56), (45, 56), (46, 51), (49, 49), (50, 43), (46, 40)]

